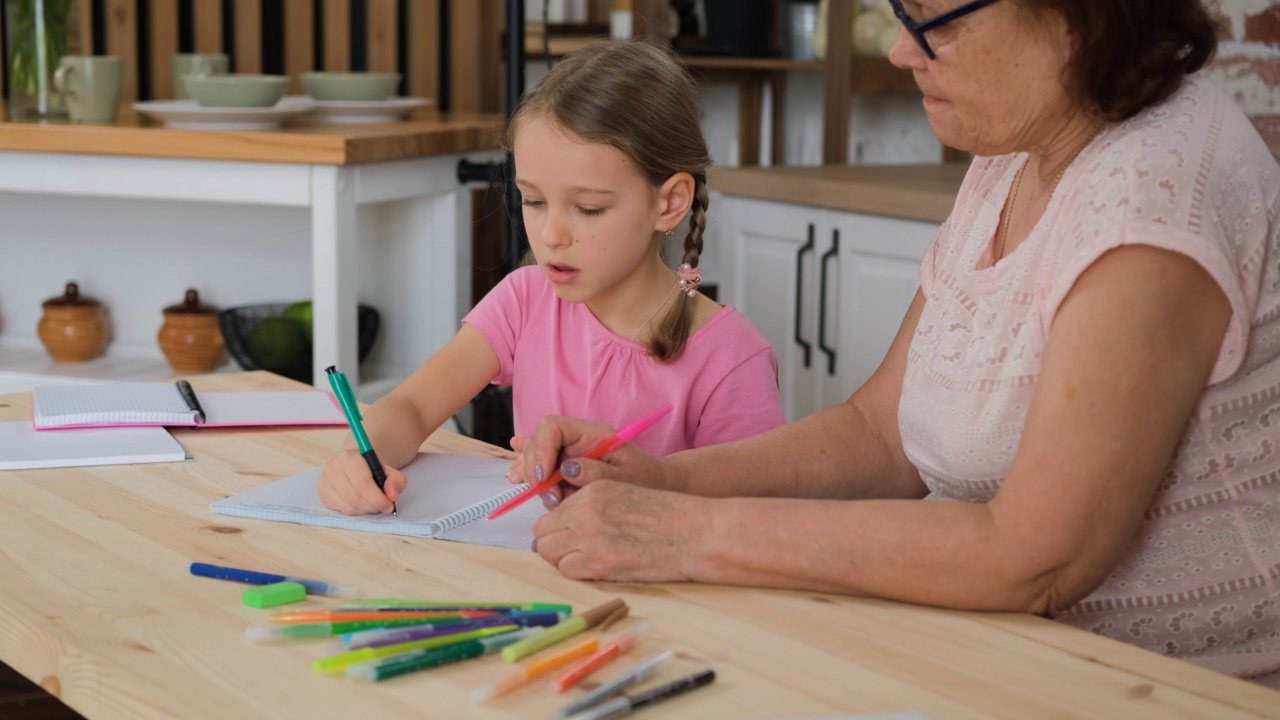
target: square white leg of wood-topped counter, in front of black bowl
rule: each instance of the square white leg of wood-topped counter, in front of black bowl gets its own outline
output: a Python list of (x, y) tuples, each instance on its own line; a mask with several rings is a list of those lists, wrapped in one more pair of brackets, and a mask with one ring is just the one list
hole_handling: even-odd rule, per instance
[(360, 382), (356, 302), (360, 254), (356, 237), (356, 170), (311, 168), (312, 383), (328, 388), (324, 369), (337, 365), (352, 386)]

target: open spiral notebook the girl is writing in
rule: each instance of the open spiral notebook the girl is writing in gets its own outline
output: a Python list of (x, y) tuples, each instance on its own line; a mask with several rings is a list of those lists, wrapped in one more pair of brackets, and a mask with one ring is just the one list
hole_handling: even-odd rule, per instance
[(408, 488), (396, 501), (398, 515), (347, 516), (329, 510), (316, 492), (320, 468), (219, 500), (210, 509), (260, 520), (530, 550), (534, 521), (547, 512), (541, 501), (530, 500), (497, 520), (485, 518), (529, 487), (511, 484), (508, 469), (509, 460), (421, 452), (401, 468)]

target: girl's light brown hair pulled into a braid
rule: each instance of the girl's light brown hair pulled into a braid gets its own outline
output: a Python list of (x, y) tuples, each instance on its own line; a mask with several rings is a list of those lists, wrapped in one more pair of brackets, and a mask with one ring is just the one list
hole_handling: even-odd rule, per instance
[[(507, 127), (507, 147), (529, 115), (549, 118), (588, 142), (618, 149), (654, 186), (676, 173), (691, 174), (689, 234), (677, 265), (698, 266), (712, 160), (703, 138), (698, 85), (671, 51), (640, 41), (604, 41), (566, 55), (525, 94)], [(694, 299), (681, 292), (650, 337), (650, 354), (659, 361), (680, 357), (692, 322)]]

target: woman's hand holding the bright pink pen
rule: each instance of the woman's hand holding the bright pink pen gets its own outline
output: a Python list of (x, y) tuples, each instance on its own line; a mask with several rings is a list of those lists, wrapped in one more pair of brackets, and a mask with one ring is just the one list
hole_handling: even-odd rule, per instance
[(668, 487), (666, 477), (671, 469), (667, 462), (632, 443), (626, 443), (599, 460), (581, 457), (613, 433), (613, 428), (591, 420), (553, 415), (543, 418), (532, 436), (511, 438), (511, 447), (520, 452), (520, 457), (512, 464), (507, 477), (513, 483), (532, 484), (549, 478), (558, 468), (564, 482), (543, 493), (543, 505), (548, 509), (556, 507), (577, 488), (605, 478), (635, 486)]

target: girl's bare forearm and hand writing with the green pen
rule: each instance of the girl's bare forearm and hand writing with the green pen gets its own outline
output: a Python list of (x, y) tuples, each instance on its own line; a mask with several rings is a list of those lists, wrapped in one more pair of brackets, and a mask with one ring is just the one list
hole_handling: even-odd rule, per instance
[(387, 466), (384, 489), (374, 484), (369, 465), (348, 434), (343, 452), (326, 462), (320, 474), (320, 500), (347, 515), (390, 512), (392, 502), (406, 484), (398, 468), (412, 460), (426, 437), (484, 389), (499, 370), (498, 354), (480, 331), (463, 323), (439, 352), (364, 413), (369, 442)]

